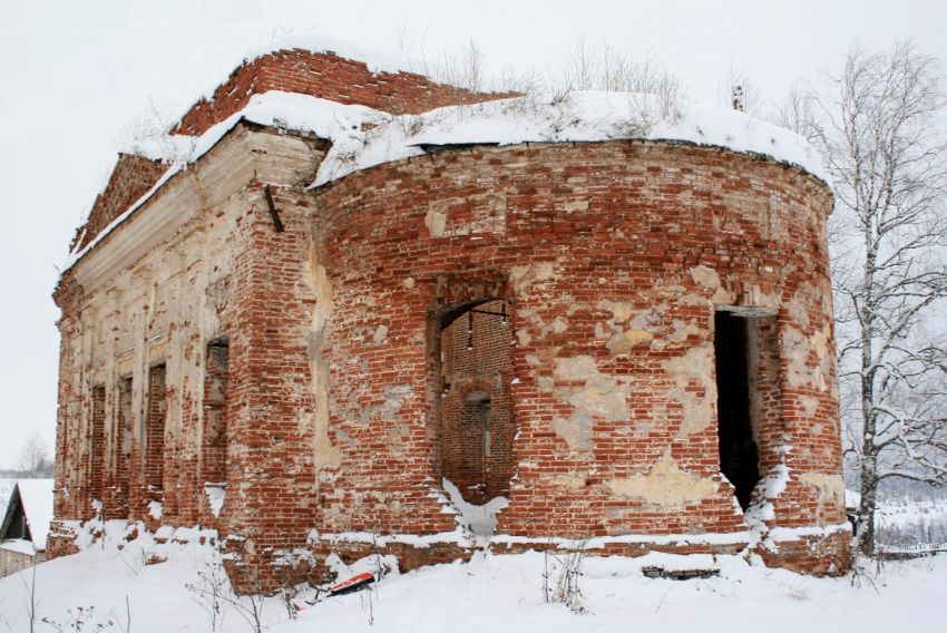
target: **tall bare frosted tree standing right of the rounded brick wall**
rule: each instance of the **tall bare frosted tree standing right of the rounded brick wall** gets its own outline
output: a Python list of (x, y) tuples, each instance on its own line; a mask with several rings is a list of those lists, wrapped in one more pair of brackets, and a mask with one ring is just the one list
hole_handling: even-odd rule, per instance
[(947, 483), (947, 101), (936, 60), (911, 43), (852, 48), (832, 86), (790, 115), (808, 120), (836, 191), (846, 455), (860, 479), (857, 543), (872, 554), (880, 484)]

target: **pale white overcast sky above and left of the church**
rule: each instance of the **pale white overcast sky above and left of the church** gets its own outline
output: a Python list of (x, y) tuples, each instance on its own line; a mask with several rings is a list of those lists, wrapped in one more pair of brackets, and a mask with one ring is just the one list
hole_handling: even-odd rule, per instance
[(936, 0), (0, 0), (0, 468), (32, 430), (53, 445), (53, 264), (130, 119), (150, 101), (185, 108), (274, 35), (393, 46), (400, 26), (431, 58), (472, 38), (495, 71), (555, 66), (580, 36), (654, 52), (703, 100), (732, 62), (781, 101), (797, 79), (839, 68), (856, 40), (875, 50), (914, 38), (947, 66)]

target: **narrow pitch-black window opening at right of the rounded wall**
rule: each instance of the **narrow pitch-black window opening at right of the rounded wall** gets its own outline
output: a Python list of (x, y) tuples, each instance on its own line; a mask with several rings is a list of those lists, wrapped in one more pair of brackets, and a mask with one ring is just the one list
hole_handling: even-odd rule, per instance
[(760, 481), (760, 456), (751, 419), (749, 332), (752, 316), (719, 310), (714, 314), (716, 356), (717, 440), (720, 471), (735, 488), (744, 510)]

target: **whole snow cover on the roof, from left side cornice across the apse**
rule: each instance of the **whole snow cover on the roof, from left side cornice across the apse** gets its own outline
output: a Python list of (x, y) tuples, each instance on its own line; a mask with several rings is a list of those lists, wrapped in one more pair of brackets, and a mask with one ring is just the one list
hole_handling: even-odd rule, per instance
[[(666, 108), (664, 108), (666, 109)], [(342, 105), (293, 92), (251, 97), (242, 110), (193, 137), (173, 135), (139, 142), (124, 150), (169, 163), (168, 171), (128, 210), (69, 254), (68, 270), (108, 233), (155, 195), (175, 174), (206, 154), (240, 121), (312, 133), (332, 142), (312, 187), (352, 172), (424, 154), (445, 145), (650, 139), (723, 147), (793, 165), (828, 182), (818, 152), (795, 133), (724, 107), (678, 104), (662, 113), (658, 100), (629, 92), (574, 91), (437, 108), (393, 116), (367, 106)]]

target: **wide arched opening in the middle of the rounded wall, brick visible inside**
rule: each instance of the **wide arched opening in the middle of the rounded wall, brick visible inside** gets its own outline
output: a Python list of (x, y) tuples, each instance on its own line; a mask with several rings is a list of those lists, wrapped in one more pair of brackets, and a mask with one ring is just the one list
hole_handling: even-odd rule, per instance
[(470, 504), (509, 494), (515, 435), (510, 320), (506, 301), (481, 300), (440, 321), (441, 474)]

